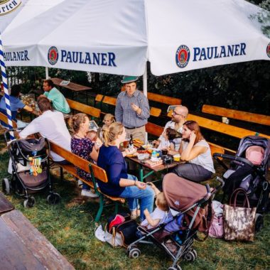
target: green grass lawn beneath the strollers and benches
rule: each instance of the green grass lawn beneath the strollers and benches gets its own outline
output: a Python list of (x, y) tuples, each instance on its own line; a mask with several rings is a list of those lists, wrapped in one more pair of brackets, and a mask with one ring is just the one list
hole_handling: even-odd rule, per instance
[[(0, 138), (3, 145), (3, 137)], [(9, 161), (8, 153), (0, 155), (0, 179), (4, 178)], [(69, 175), (65, 175), (67, 177)], [(70, 178), (70, 177), (69, 177)], [(70, 178), (72, 179), (72, 178)], [(167, 269), (171, 259), (156, 247), (141, 246), (141, 257), (129, 259), (125, 249), (115, 248), (99, 242), (95, 238), (95, 214), (97, 200), (80, 198), (80, 190), (75, 181), (61, 181), (53, 176), (55, 191), (62, 200), (51, 206), (45, 194), (36, 194), (36, 205), (24, 209), (23, 199), (16, 195), (7, 198), (21, 210), (31, 223), (63, 254), (75, 269)], [(102, 224), (113, 212), (107, 209), (102, 216)], [(193, 263), (181, 262), (182, 269), (270, 269), (270, 217), (264, 218), (264, 229), (256, 235), (253, 243), (225, 242), (208, 238), (205, 242), (195, 242), (198, 259)]]

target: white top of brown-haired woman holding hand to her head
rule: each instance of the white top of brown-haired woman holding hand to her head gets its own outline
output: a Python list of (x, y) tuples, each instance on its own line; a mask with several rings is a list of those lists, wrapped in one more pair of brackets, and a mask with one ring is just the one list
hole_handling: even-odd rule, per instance
[[(207, 144), (207, 141), (205, 141), (205, 140), (198, 141), (198, 143), (195, 144), (195, 146), (207, 147), (207, 151), (205, 153), (200, 153), (199, 156), (196, 156), (195, 158), (193, 158), (189, 162), (193, 163), (193, 164), (200, 165), (203, 168), (205, 168), (206, 170), (211, 171), (212, 173), (215, 173), (215, 168), (214, 168), (214, 163), (212, 160), (210, 146), (209, 146), (209, 144)], [(183, 150), (187, 147), (188, 147), (188, 141), (183, 141)]]

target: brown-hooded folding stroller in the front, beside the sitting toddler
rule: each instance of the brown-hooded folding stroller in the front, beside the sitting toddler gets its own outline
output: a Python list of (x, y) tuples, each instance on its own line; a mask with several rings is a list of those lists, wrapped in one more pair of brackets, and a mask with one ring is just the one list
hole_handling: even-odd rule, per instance
[[(197, 232), (205, 232), (212, 222), (212, 198), (220, 186), (210, 191), (210, 186), (193, 183), (168, 173), (163, 178), (163, 193), (168, 202), (170, 213), (163, 224), (152, 229), (138, 227), (141, 237), (127, 247), (129, 258), (139, 257), (141, 251), (137, 244), (156, 244), (173, 259), (168, 270), (180, 270), (177, 264), (180, 258), (194, 261), (197, 252), (193, 249), (193, 240)], [(206, 239), (206, 237), (205, 237)]]

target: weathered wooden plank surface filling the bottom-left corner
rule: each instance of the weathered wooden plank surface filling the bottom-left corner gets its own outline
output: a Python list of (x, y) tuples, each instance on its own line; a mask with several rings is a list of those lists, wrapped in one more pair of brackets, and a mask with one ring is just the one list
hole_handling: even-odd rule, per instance
[(0, 217), (1, 269), (67, 269), (74, 267), (18, 210)]

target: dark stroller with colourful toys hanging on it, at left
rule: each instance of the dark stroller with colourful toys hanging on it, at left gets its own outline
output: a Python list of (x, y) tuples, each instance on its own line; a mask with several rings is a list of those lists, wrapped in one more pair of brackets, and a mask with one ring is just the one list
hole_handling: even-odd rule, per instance
[(53, 193), (50, 182), (49, 141), (44, 138), (9, 141), (7, 134), (12, 131), (21, 130), (9, 129), (4, 133), (11, 163), (11, 176), (2, 181), (4, 193), (9, 194), (13, 190), (26, 199), (23, 202), (24, 207), (33, 207), (36, 201), (30, 194), (48, 187), (50, 194), (47, 201), (50, 204), (58, 203), (60, 195)]

